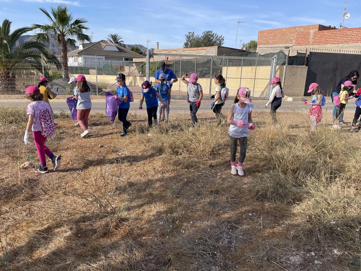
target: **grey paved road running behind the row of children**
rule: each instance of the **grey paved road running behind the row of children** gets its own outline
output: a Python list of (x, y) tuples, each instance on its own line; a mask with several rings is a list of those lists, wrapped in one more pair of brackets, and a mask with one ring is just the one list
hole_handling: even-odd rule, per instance
[[(201, 103), (201, 107), (199, 112), (211, 112), (210, 111), (210, 100), (204, 100)], [(12, 99), (12, 100), (0, 100), (1, 105), (23, 105), (26, 106), (29, 104), (29, 101), (26, 99)], [(50, 101), (50, 104), (54, 110), (54, 112), (59, 113), (61, 110), (66, 112), (69, 111), (68, 105), (66, 104), (65, 99), (54, 99)], [(223, 107), (223, 110), (229, 110), (231, 107), (232, 101), (229, 100), (226, 102), (226, 105)], [(255, 109), (258, 111), (270, 111), (270, 106), (265, 108), (266, 100), (253, 100), (252, 104), (255, 105)], [(145, 102), (143, 103), (143, 108), (145, 108)], [(189, 112), (189, 105), (185, 100), (172, 100), (170, 104), (171, 111), (177, 110), (178, 112)], [(332, 112), (334, 106), (331, 102), (327, 102), (326, 106), (323, 107), (323, 112)], [(282, 106), (278, 109), (278, 111), (292, 111), (292, 112), (305, 112), (308, 107), (305, 106), (302, 102), (282, 102)], [(105, 99), (93, 99), (92, 100), (92, 112), (94, 111), (105, 111)], [(346, 112), (355, 112), (355, 103), (353, 101), (346, 107)], [(147, 111), (145, 109), (139, 110), (139, 99), (134, 100), (131, 103), (129, 112), (137, 112), (146, 114)]]

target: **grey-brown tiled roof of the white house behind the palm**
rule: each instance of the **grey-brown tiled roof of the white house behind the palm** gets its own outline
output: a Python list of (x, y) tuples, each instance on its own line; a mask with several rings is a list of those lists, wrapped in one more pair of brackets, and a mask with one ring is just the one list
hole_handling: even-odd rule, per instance
[[(115, 46), (118, 51), (103, 50), (105, 46)], [(77, 49), (68, 52), (68, 56), (72, 55), (97, 55), (97, 56), (109, 56), (109, 57), (126, 57), (126, 58), (140, 58), (145, 57), (139, 55), (133, 51), (130, 51), (117, 44), (110, 43), (106, 40), (100, 40), (99, 42), (84, 43), (83, 49)]]

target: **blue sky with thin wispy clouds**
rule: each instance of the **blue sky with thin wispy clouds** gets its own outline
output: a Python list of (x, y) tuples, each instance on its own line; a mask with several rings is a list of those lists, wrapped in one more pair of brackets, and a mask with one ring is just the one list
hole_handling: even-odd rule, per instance
[[(240, 39), (243, 42), (257, 39), (258, 30), (316, 23), (339, 27), (345, 1), (0, 0), (0, 19), (12, 21), (12, 29), (47, 23), (39, 7), (50, 9), (58, 3), (68, 5), (74, 17), (88, 19), (88, 34), (93, 32), (93, 41), (118, 33), (127, 44), (147, 46), (150, 39), (149, 48), (155, 48), (156, 42), (160, 42), (160, 48), (179, 48), (183, 47), (188, 31), (201, 34), (204, 30), (222, 34), (223, 46), (235, 47), (238, 20), (246, 23), (239, 25), (237, 47)], [(351, 17), (345, 20), (345, 26), (361, 26), (360, 0), (348, 2), (347, 12)]]

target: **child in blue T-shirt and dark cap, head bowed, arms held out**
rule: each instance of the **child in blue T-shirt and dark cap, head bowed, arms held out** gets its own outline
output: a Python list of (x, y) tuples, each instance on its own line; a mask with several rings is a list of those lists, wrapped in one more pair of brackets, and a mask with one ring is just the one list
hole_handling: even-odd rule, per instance
[(153, 124), (152, 119), (154, 119), (155, 125), (158, 124), (158, 121), (157, 121), (157, 110), (158, 110), (157, 97), (158, 97), (158, 99), (160, 99), (160, 107), (163, 108), (164, 102), (163, 102), (162, 96), (159, 95), (159, 93), (157, 92), (156, 89), (153, 89), (153, 87), (151, 87), (151, 84), (148, 81), (144, 81), (142, 83), (142, 96), (140, 97), (139, 109), (143, 109), (142, 105), (143, 105), (143, 101), (145, 98), (145, 104), (147, 105), (149, 127), (152, 127), (152, 124)]

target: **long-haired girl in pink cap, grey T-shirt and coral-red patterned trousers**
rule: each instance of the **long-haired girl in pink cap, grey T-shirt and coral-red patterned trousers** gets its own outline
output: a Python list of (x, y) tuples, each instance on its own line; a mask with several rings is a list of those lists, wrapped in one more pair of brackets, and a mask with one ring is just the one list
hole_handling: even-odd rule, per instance
[(91, 110), (90, 87), (88, 86), (87, 79), (82, 74), (77, 77), (77, 86), (74, 90), (75, 96), (73, 99), (77, 102), (77, 119), (80, 127), (83, 129), (81, 137), (87, 137), (90, 133), (88, 130), (88, 118)]

